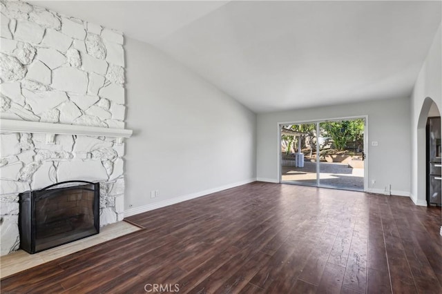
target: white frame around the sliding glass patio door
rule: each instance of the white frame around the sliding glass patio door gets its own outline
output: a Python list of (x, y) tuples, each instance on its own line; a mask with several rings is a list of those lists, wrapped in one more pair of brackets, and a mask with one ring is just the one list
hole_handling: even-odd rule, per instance
[[(368, 115), (356, 115), (352, 117), (332, 117), (328, 119), (307, 119), (307, 120), (300, 120), (300, 121), (283, 121), (277, 123), (278, 128), (278, 160), (276, 161), (278, 163), (278, 182), (280, 184), (290, 184), (287, 182), (282, 183), (282, 157), (281, 157), (281, 126), (289, 125), (289, 124), (318, 124), (321, 122), (327, 122), (327, 121), (342, 121), (342, 120), (351, 120), (351, 119), (365, 119), (365, 126), (364, 126), (364, 188), (363, 191), (367, 192), (368, 189), (368, 159), (369, 159), (369, 150), (368, 150)], [(317, 131), (317, 130), (316, 130)], [(316, 170), (316, 175), (318, 175), (319, 170)], [(316, 179), (317, 181), (317, 179)], [(296, 184), (296, 185), (302, 185), (302, 184)], [(304, 186), (311, 186), (304, 184)], [(315, 185), (314, 187), (318, 188), (329, 188), (329, 187), (320, 187)], [(336, 188), (338, 189), (338, 188)], [(345, 189), (347, 190), (347, 189)]]

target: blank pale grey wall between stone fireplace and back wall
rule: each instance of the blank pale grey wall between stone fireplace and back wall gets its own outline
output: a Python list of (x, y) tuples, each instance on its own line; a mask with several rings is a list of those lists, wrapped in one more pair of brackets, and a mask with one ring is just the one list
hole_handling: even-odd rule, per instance
[(126, 215), (253, 181), (256, 115), (147, 43), (125, 49)]

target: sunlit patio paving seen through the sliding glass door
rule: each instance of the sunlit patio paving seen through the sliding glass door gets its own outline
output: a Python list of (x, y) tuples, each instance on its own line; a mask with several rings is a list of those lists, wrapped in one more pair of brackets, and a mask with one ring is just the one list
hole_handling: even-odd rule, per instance
[[(303, 168), (282, 166), (282, 182), (316, 184), (316, 162), (305, 161)], [(350, 190), (364, 189), (364, 169), (336, 162), (320, 163), (320, 186)]]

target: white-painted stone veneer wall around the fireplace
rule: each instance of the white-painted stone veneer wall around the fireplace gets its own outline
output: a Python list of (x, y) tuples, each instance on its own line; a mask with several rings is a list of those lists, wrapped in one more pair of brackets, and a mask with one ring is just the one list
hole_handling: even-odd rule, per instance
[[(124, 128), (123, 35), (21, 1), (1, 1), (2, 119)], [(1, 126), (0, 126), (1, 127)], [(100, 182), (100, 224), (122, 220), (124, 144), (111, 137), (1, 134), (0, 254), (19, 247), (19, 193)]]

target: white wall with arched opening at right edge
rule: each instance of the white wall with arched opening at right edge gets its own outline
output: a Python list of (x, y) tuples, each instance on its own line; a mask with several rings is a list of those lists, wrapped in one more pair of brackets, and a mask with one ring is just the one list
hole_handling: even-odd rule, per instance
[(442, 30), (436, 32), (425, 63), (419, 72), (411, 101), (412, 117), (412, 199), (426, 206), (425, 201), (425, 122), (434, 102), (442, 110)]

